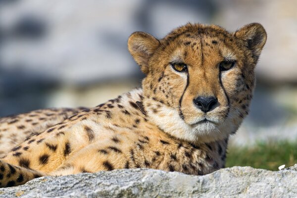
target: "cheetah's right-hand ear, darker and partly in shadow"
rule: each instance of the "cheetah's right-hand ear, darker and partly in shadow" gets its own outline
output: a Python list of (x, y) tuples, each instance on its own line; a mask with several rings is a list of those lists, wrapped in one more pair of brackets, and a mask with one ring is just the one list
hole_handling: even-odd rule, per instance
[(263, 26), (259, 23), (250, 23), (236, 31), (234, 35), (246, 42), (247, 48), (252, 51), (253, 59), (257, 62), (267, 38)]

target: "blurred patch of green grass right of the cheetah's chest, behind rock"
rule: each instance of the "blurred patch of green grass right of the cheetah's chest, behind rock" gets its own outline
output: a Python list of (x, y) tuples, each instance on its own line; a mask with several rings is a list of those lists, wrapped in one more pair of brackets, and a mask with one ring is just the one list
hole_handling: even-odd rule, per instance
[(286, 167), (297, 163), (297, 141), (257, 143), (254, 147), (229, 147), (226, 167), (251, 166), (268, 170), (278, 170), (280, 165)]

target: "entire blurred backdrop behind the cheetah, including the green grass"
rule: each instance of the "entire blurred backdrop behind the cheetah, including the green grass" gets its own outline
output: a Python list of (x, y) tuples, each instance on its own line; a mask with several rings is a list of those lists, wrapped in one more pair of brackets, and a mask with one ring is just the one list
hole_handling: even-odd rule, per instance
[(0, 117), (95, 106), (144, 77), (127, 50), (135, 31), (157, 38), (187, 22), (235, 31), (261, 23), (268, 40), (251, 111), (227, 166), (297, 163), (297, 0), (0, 0)]

